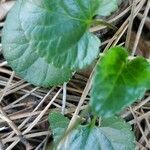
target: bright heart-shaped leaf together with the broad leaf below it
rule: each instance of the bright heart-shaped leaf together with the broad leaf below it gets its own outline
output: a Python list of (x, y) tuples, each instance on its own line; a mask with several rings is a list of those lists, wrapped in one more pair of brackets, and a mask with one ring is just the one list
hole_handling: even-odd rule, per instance
[[(128, 59), (126, 49), (114, 47), (98, 61), (87, 111), (93, 119), (80, 120), (68, 132), (69, 120), (59, 113), (49, 115), (57, 149), (134, 150), (131, 126), (115, 117), (126, 106), (141, 99), (149, 89), (150, 64), (142, 58)], [(98, 125), (97, 120), (99, 120)]]

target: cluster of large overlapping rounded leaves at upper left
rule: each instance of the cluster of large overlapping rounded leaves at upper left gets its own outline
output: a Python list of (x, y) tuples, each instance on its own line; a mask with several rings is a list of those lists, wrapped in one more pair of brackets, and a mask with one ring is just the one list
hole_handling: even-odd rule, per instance
[(18, 0), (3, 30), (4, 57), (18, 75), (34, 85), (62, 84), (73, 71), (87, 67), (98, 57), (100, 40), (89, 28), (99, 21), (105, 24), (93, 17), (110, 14), (117, 3)]

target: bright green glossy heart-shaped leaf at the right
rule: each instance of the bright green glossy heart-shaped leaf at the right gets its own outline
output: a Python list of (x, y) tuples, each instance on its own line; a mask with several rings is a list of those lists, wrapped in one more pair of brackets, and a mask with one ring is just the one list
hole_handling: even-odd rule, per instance
[(90, 106), (99, 116), (113, 116), (150, 88), (150, 64), (142, 57), (127, 57), (124, 48), (114, 47), (96, 67)]

